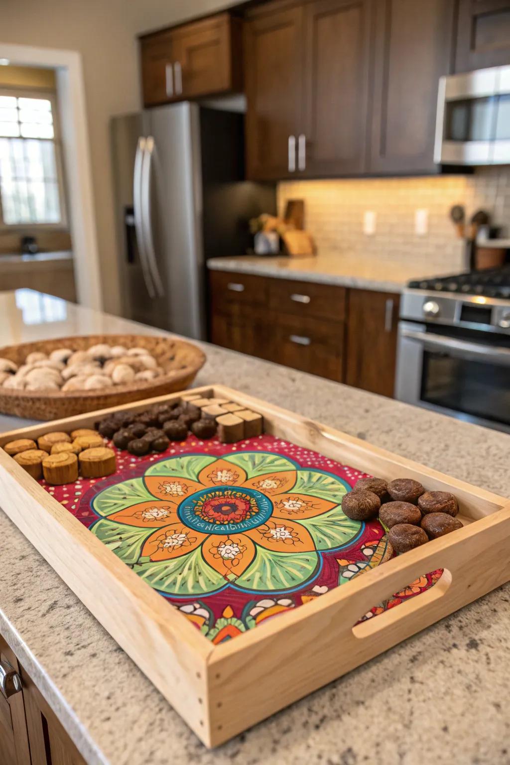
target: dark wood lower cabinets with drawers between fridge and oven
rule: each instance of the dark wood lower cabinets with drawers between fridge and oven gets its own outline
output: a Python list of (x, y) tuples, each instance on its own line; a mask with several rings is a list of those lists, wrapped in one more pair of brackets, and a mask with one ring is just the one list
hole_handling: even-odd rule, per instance
[(398, 295), (210, 272), (210, 340), (393, 396)]

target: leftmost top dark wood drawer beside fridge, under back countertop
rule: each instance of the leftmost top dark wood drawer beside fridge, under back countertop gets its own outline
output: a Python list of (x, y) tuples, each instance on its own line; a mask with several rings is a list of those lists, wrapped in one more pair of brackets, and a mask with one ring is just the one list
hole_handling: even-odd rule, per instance
[(236, 305), (268, 305), (268, 279), (262, 276), (211, 271), (210, 287), (216, 313), (231, 313)]

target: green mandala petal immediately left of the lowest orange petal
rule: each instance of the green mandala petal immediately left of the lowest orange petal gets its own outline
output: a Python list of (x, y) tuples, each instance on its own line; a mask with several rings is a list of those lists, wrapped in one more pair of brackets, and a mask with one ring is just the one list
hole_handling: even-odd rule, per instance
[(226, 584), (223, 576), (204, 561), (200, 547), (171, 561), (143, 563), (134, 571), (167, 595), (204, 595)]

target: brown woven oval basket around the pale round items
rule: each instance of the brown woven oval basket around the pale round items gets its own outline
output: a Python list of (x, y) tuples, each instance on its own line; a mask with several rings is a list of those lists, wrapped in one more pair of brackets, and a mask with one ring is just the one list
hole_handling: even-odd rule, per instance
[(20, 391), (0, 387), (0, 412), (38, 420), (54, 420), (95, 409), (128, 404), (153, 396), (163, 396), (187, 388), (197, 376), (206, 360), (205, 354), (192, 343), (172, 337), (154, 335), (84, 335), (60, 337), (57, 340), (40, 340), (37, 343), (22, 343), (0, 348), (0, 357), (14, 361), (18, 366), (24, 363), (34, 350), (51, 353), (57, 348), (87, 350), (97, 343), (110, 346), (123, 345), (126, 348), (146, 348), (148, 353), (164, 369), (164, 375), (148, 382), (132, 382), (128, 385), (112, 386), (90, 391)]

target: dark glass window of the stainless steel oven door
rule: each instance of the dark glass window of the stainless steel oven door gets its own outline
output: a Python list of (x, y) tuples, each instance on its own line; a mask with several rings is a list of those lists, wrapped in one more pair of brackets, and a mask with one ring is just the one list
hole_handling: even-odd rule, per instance
[(510, 425), (510, 366), (424, 350), (421, 400)]

